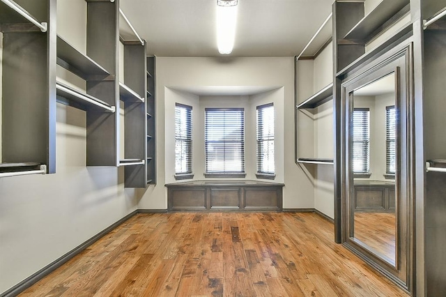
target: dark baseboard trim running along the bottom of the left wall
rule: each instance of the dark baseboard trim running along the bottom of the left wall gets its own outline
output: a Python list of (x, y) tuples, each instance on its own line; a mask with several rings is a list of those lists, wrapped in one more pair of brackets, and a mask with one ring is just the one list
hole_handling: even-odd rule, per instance
[(112, 231), (113, 229), (118, 227), (120, 224), (122, 224), (126, 220), (132, 218), (132, 216), (136, 215), (137, 213), (139, 213), (139, 210), (132, 211), (128, 215), (125, 215), (125, 217), (122, 218), (121, 220), (118, 220), (117, 222), (114, 222), (109, 227), (107, 227), (104, 230), (100, 231), (95, 236), (89, 238), (84, 243), (81, 243), (76, 248), (70, 250), (70, 252), (67, 252), (66, 254), (64, 254), (59, 259), (56, 259), (55, 261), (53, 261), (52, 263), (48, 264), (44, 268), (40, 269), (40, 271), (38, 271), (38, 272), (34, 273), (33, 275), (27, 277), (25, 280), (22, 280), (22, 282), (19, 282), (18, 284), (16, 284), (14, 287), (8, 289), (7, 291), (1, 293), (0, 297), (13, 297), (13, 296), (17, 296), (18, 294), (22, 293), (22, 291), (28, 289), (33, 284), (36, 284), (36, 282), (38, 282), (39, 280), (43, 279), (43, 277), (49, 275), (49, 273), (52, 273), (53, 271), (55, 271), (57, 268), (59, 268), (63, 264), (66, 264), (66, 262), (69, 261), (70, 259), (72, 259), (72, 257), (75, 257), (77, 254), (79, 254), (79, 252), (82, 252), (83, 250), (88, 248), (90, 245), (92, 245), (93, 243), (98, 241), (100, 238), (102, 238), (102, 236), (105, 236), (110, 231)]

